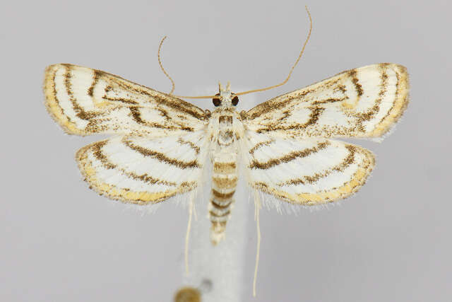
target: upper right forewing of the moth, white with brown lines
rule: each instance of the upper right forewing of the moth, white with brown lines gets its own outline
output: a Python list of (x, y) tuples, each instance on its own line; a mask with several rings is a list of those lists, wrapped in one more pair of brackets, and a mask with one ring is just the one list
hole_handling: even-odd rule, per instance
[(364, 66), (242, 112), (246, 129), (270, 137), (381, 137), (408, 105), (408, 74)]

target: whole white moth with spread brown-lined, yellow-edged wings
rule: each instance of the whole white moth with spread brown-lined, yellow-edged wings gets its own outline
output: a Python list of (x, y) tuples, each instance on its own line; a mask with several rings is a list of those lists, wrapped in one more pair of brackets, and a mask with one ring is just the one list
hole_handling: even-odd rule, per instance
[(357, 192), (374, 155), (337, 139), (381, 139), (407, 107), (408, 88), (405, 67), (373, 64), (245, 112), (236, 109), (239, 93), (229, 84), (220, 84), (210, 111), (72, 64), (48, 66), (44, 79), (47, 110), (66, 133), (114, 134), (76, 153), (98, 193), (156, 204), (196, 190), (210, 167), (214, 245), (232, 215), (239, 167), (252, 190), (291, 204), (324, 204)]

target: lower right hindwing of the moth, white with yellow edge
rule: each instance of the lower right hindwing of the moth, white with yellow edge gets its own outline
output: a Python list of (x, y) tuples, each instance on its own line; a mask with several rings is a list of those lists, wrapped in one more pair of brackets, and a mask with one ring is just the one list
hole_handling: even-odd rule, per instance
[(275, 139), (247, 132), (243, 148), (249, 185), (293, 204), (348, 197), (374, 168), (370, 151), (331, 139)]

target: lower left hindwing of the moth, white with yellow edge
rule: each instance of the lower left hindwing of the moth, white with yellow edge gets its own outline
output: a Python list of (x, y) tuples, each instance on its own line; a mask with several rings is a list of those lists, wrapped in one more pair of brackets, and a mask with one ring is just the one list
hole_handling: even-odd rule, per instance
[(135, 204), (161, 202), (194, 190), (206, 162), (204, 132), (184, 137), (113, 137), (77, 152), (76, 160), (94, 190)]

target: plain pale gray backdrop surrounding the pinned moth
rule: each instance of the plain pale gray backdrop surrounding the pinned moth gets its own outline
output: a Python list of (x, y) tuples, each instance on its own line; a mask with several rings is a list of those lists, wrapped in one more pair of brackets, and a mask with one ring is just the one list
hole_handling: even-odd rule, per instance
[[(43, 106), (42, 75), (68, 62), (160, 91), (215, 93), (292, 79), (261, 102), (376, 62), (408, 67), (411, 103), (376, 144), (377, 166), (340, 207), (261, 213), (256, 301), (451, 301), (451, 17), (449, 1), (6, 1), (0, 9), (0, 301), (170, 301), (182, 283), (186, 209), (142, 216), (99, 197), (69, 137)], [(249, 100), (249, 101), (247, 101)], [(208, 101), (194, 100), (203, 107)], [(243, 197), (247, 199), (247, 196)], [(239, 197), (237, 200), (239, 201)], [(251, 206), (250, 206), (251, 207)], [(201, 213), (205, 209), (200, 209)], [(256, 234), (246, 229), (243, 301)]]

